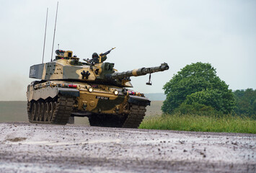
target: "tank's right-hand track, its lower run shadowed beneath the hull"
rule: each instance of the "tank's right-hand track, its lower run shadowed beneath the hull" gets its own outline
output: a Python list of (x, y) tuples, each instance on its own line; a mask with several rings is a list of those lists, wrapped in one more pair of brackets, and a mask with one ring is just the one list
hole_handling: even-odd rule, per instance
[(110, 128), (138, 128), (144, 119), (145, 106), (130, 105), (128, 115), (92, 115), (89, 117), (91, 126)]

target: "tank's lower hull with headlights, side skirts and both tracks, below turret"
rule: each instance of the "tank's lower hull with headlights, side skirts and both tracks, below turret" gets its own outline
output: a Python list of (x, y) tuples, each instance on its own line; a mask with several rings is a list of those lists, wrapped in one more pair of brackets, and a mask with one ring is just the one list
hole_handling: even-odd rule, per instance
[[(130, 93), (130, 94), (129, 94)], [(89, 117), (90, 125), (138, 128), (149, 99), (118, 86), (74, 81), (33, 81), (27, 86), (30, 123), (74, 123)]]

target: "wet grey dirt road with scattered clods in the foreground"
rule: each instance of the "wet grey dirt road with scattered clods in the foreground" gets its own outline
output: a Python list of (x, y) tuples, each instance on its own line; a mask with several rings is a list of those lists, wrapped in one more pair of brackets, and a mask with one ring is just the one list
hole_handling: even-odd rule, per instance
[(0, 123), (0, 172), (256, 172), (256, 135)]

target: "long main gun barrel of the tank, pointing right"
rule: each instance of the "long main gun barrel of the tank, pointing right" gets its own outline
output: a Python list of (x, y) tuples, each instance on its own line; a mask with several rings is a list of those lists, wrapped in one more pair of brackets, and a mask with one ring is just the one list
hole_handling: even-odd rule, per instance
[(165, 71), (168, 70), (169, 66), (167, 63), (162, 63), (161, 66), (149, 67), (149, 68), (138, 68), (132, 71), (124, 71), (124, 72), (117, 72), (114, 74), (107, 74), (107, 79), (114, 80), (114, 79), (124, 79), (125, 77), (130, 76), (143, 76), (146, 74), (153, 74), (158, 71)]

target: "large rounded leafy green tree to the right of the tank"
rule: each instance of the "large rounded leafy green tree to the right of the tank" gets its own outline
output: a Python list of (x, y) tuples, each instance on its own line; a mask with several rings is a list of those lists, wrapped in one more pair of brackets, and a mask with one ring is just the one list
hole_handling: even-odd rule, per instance
[(164, 85), (162, 111), (171, 114), (175, 108), (185, 105), (206, 105), (228, 113), (234, 109), (234, 94), (229, 86), (216, 76), (210, 63), (192, 63), (185, 66)]

